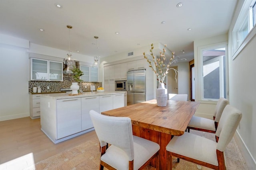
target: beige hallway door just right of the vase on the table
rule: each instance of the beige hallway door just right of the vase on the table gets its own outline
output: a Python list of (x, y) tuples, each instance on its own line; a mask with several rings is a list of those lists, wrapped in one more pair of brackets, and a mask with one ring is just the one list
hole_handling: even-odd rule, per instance
[[(178, 66), (174, 67), (174, 69), (178, 70)], [(168, 72), (169, 73), (167, 74), (167, 93), (178, 94), (178, 74), (176, 75), (175, 80), (175, 71), (169, 70)]]

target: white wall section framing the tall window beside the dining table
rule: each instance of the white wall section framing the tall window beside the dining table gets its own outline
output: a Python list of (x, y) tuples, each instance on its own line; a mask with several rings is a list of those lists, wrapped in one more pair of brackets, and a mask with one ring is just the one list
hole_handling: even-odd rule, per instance
[[(228, 41), (228, 34), (223, 35), (217, 35), (214, 37), (209, 37), (206, 39), (200, 39), (194, 41), (194, 66), (195, 66), (195, 101), (199, 101), (198, 95), (199, 95), (199, 88), (198, 84), (200, 83), (198, 78), (198, 49), (202, 46), (217, 44)], [(196, 110), (195, 115), (200, 117), (205, 117), (208, 119), (213, 118), (214, 109), (217, 102), (208, 102), (208, 101), (199, 101), (200, 105), (198, 109)]]

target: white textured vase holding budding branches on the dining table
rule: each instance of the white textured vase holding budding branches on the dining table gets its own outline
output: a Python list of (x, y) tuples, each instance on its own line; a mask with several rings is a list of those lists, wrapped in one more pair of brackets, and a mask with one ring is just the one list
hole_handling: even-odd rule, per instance
[(167, 105), (167, 89), (164, 87), (164, 83), (159, 83), (158, 89), (156, 89), (156, 102), (157, 106)]

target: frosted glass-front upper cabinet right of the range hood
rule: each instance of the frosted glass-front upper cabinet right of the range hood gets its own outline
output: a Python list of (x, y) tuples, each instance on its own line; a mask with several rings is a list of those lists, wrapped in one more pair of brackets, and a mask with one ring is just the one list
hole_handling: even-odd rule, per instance
[(80, 77), (84, 82), (98, 82), (98, 68), (80, 65), (80, 70), (84, 73)]

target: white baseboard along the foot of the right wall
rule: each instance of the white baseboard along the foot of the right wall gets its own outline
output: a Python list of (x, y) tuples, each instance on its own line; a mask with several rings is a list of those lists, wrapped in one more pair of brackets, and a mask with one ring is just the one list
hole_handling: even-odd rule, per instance
[(252, 157), (250, 150), (248, 150), (248, 148), (246, 147), (238, 131), (236, 131), (236, 133), (234, 134), (234, 139), (242, 156), (244, 157), (246, 165), (248, 166), (248, 170), (256, 170), (256, 161)]

